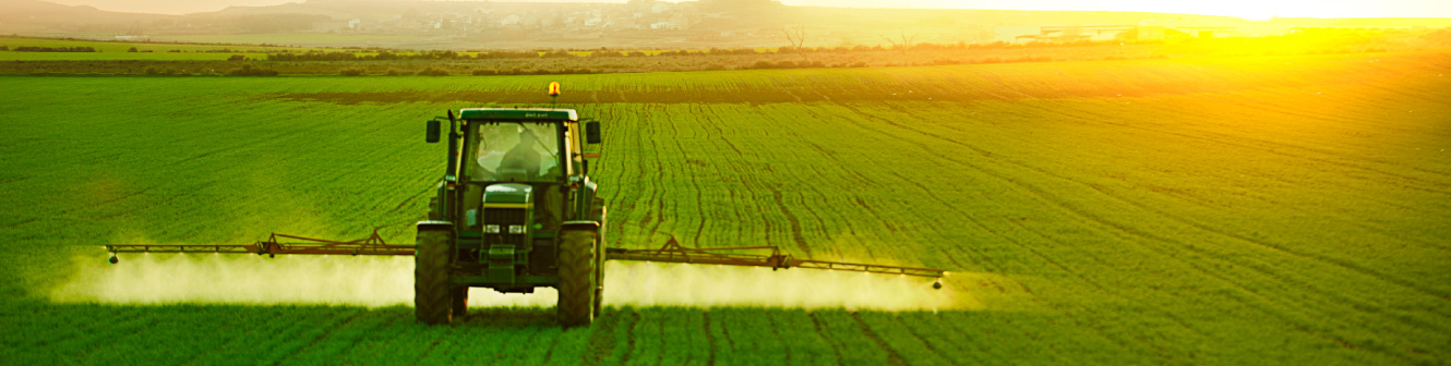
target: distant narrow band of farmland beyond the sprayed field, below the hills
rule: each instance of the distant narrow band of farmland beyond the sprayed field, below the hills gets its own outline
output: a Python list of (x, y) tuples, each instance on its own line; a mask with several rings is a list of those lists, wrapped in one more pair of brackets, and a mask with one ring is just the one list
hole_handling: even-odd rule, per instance
[[(231, 42), (257, 42), (292, 45), (289, 39), (329, 39), (340, 42), (357, 39), (345, 35), (242, 35)], [(158, 39), (167, 41), (167, 39)], [(187, 39), (199, 41), (199, 39)], [(221, 41), (221, 39), (215, 39)], [(398, 41), (398, 39), (393, 39)], [(421, 49), (441, 51), (422, 39), (408, 42), (409, 49), (393, 49), (395, 55), (421, 55)], [(353, 45), (376, 46), (369, 42)], [(489, 43), (498, 46), (498, 43)], [(617, 74), (617, 72), (676, 72), (676, 71), (730, 71), (730, 69), (789, 69), (789, 68), (866, 68), (866, 67), (927, 67), (927, 65), (971, 65), (971, 64), (1014, 64), (1046, 61), (1123, 61), (1123, 59), (1174, 59), (1174, 58), (1222, 58), (1262, 55), (1329, 55), (1329, 54), (1384, 54), (1384, 52), (1447, 52), (1451, 49), (1451, 30), (1367, 30), (1341, 29), (1294, 33), (1265, 38), (1223, 39), (1158, 39), (1142, 42), (1069, 42), (1069, 43), (918, 43), (905, 49), (891, 46), (808, 46), (755, 48), (755, 49), (596, 49), (559, 51), (547, 46), (530, 49), (477, 49), (457, 46), (464, 51), (456, 58), (424, 56), (421, 59), (358, 59), (344, 61), (334, 56), (277, 58), (264, 52), (353, 52), (370, 58), (376, 52), (358, 52), (358, 48), (281, 48), (250, 45), (173, 45), (173, 43), (126, 43), (96, 41), (61, 41), (38, 38), (0, 38), (0, 46), (75, 48), (90, 46), (103, 52), (16, 52), (0, 51), (0, 74), (25, 75), (148, 75), (148, 77), (213, 77), (225, 75), (242, 67), (276, 71), (280, 75), (554, 75), (554, 74)], [(129, 48), (152, 52), (126, 52)], [(229, 52), (216, 52), (228, 49)], [(176, 52), (171, 52), (176, 51)], [(367, 49), (376, 51), (376, 49)], [(245, 52), (245, 54), (244, 54)], [(566, 52), (573, 56), (560, 56)], [(490, 56), (480, 56), (492, 54)], [(637, 56), (601, 56), (601, 55)], [(248, 59), (247, 64), (226, 61), (235, 55)], [(643, 58), (649, 55), (649, 58)], [(10, 61), (10, 62), (3, 62)], [(427, 72), (425, 72), (427, 71)], [(422, 72), (422, 74), (421, 74)], [(270, 74), (270, 72), (267, 72)]]

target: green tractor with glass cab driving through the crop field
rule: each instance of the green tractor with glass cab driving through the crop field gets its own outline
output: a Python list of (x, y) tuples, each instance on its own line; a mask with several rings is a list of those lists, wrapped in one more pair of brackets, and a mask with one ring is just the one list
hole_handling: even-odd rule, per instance
[[(599, 123), (572, 108), (464, 108), (447, 122), (448, 165), (418, 223), (418, 320), (463, 317), (469, 288), (551, 286), (559, 323), (589, 325), (604, 294), (605, 204), (583, 148), (601, 142)], [(441, 124), (428, 122), (427, 142)]]

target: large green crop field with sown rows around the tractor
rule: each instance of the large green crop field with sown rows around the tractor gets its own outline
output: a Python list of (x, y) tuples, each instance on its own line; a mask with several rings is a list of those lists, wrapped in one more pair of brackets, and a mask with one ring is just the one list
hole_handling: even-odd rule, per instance
[[(424, 327), (411, 307), (389, 304), (57, 295), (77, 273), (106, 276), (106, 243), (374, 227), (409, 243), (418, 197), (443, 171), (422, 122), (543, 103), (548, 81), (564, 84), (560, 104), (607, 123), (592, 169), (609, 246), (675, 237), (937, 266), (953, 271), (942, 294), (963, 298), (904, 311), (691, 307), (638, 301), (612, 279), (602, 320), (560, 330), (553, 308), (527, 304)], [(0, 94), (6, 363), (1451, 362), (1444, 52), (493, 78), (7, 77)], [(149, 263), (122, 260), (116, 271)], [(348, 271), (408, 279), (406, 268), (360, 263)], [(238, 276), (222, 281), (266, 276), (228, 271)], [(813, 289), (852, 291), (798, 291)]]

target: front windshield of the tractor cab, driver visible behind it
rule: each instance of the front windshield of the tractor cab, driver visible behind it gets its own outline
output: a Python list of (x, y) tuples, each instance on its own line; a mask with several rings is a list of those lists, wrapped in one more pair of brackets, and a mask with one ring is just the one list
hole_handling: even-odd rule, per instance
[(474, 123), (466, 174), (476, 182), (559, 181), (559, 123)]

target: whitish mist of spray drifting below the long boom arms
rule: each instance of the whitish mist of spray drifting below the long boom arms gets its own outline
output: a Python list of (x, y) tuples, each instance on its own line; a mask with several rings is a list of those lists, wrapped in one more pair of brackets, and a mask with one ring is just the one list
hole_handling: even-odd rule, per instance
[[(122, 255), (89, 258), (51, 291), (58, 302), (412, 305), (414, 259), (369, 256)], [(470, 307), (553, 307), (557, 292), (469, 292)], [(885, 311), (982, 308), (950, 278), (842, 271), (607, 262), (605, 304), (634, 307), (781, 307)]]

